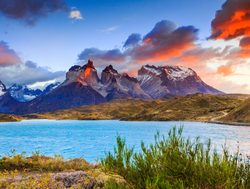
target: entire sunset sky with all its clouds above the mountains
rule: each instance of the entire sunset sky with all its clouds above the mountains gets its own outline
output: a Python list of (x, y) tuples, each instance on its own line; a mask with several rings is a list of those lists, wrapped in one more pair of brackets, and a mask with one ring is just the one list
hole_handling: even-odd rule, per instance
[(91, 58), (131, 76), (145, 64), (194, 69), (250, 93), (249, 0), (1, 0), (0, 80), (62, 81)]

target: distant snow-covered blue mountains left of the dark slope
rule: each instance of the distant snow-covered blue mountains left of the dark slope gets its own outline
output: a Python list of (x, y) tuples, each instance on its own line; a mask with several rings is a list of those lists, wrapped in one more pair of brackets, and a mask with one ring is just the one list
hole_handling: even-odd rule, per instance
[(40, 95), (44, 95), (55, 89), (60, 85), (60, 82), (52, 83), (48, 85), (44, 90), (41, 89), (31, 89), (26, 85), (14, 84), (9, 89), (10, 95), (19, 102), (28, 102)]

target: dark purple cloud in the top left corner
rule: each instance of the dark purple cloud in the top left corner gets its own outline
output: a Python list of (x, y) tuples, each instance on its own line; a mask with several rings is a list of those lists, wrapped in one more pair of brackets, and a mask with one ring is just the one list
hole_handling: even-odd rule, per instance
[(34, 25), (41, 17), (56, 11), (67, 11), (63, 0), (1, 0), (0, 13), (8, 18)]

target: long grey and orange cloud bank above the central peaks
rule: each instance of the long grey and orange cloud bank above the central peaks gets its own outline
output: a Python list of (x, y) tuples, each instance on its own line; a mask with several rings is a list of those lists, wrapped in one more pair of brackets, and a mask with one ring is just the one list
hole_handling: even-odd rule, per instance
[(88, 48), (80, 53), (79, 60), (91, 58), (98, 64), (105, 61), (114, 63), (166, 61), (194, 48), (197, 32), (193, 26), (177, 28), (172, 22), (163, 20), (158, 22), (143, 39), (140, 34), (131, 34), (124, 43), (124, 51)]

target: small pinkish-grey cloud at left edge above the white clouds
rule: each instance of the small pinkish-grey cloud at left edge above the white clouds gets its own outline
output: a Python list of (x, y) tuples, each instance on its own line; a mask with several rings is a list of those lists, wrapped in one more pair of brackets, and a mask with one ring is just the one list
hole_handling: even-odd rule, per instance
[(0, 67), (19, 63), (21, 63), (21, 60), (16, 52), (10, 49), (6, 42), (0, 41)]

